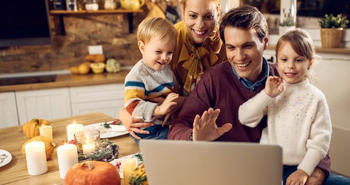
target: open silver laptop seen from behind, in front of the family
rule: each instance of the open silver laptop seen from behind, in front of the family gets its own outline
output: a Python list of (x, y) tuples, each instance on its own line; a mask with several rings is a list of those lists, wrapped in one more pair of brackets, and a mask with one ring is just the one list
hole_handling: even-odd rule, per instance
[(140, 140), (149, 185), (281, 185), (282, 148), (237, 142)]

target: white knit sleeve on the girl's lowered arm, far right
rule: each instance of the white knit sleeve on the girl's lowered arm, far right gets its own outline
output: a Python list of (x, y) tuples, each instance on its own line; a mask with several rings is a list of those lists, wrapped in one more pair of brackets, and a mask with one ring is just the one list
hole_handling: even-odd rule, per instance
[(315, 111), (309, 139), (306, 142), (307, 152), (298, 166), (298, 169), (302, 169), (309, 176), (321, 159), (326, 156), (332, 135), (330, 113), (324, 96), (318, 101)]

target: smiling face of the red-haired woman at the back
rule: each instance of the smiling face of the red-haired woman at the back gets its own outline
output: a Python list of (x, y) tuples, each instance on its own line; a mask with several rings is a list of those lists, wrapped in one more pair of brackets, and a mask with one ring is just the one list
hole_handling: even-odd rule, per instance
[(181, 6), (181, 11), (190, 38), (196, 44), (210, 36), (220, 18), (217, 5), (210, 0), (187, 0), (186, 8)]

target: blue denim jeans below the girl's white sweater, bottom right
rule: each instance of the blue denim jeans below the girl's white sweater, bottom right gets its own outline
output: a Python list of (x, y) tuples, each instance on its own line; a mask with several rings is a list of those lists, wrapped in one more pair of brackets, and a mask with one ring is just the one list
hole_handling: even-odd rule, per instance
[[(283, 185), (285, 185), (290, 174), (297, 170), (297, 166), (283, 167)], [(323, 185), (350, 185), (350, 179), (340, 175), (331, 173), (330, 176), (323, 182)]]

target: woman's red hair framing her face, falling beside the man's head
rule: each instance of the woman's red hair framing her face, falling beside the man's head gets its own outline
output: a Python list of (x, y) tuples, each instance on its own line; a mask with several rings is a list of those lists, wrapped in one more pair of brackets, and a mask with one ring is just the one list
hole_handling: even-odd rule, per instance
[[(181, 6), (183, 7), (183, 9), (186, 8), (186, 2), (187, 0), (181, 0)], [(221, 3), (220, 3), (220, 0), (210, 0), (210, 2), (213, 2), (215, 3), (216, 5), (216, 11), (217, 12), (221, 12)], [(214, 46), (214, 52), (215, 53), (218, 53), (221, 49), (221, 45), (222, 45), (222, 40), (220, 38), (220, 33), (219, 33), (219, 24), (217, 23), (219, 21), (219, 17), (217, 18), (217, 21), (216, 21), (216, 25), (215, 25), (215, 28), (213, 30), (213, 32), (210, 34), (209, 38), (210, 40), (212, 41), (213, 43), (213, 46)]]

